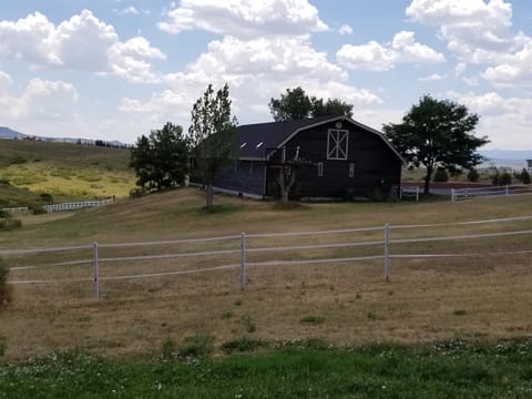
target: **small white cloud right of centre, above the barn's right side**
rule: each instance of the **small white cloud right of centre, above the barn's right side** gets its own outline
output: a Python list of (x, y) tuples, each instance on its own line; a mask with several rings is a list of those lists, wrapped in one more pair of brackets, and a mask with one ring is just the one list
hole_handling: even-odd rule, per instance
[(416, 42), (415, 33), (401, 31), (391, 43), (380, 44), (370, 41), (367, 44), (345, 44), (336, 53), (339, 64), (350, 69), (388, 71), (397, 63), (439, 63), (444, 62), (442, 53), (428, 45)]

